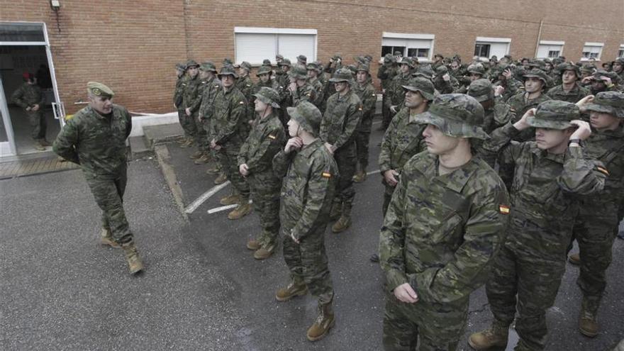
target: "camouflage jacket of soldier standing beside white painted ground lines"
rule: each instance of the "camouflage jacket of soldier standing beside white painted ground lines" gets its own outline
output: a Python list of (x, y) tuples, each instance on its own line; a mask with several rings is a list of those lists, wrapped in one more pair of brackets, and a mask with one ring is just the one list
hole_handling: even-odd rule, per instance
[(215, 97), (210, 135), (215, 143), (223, 147), (236, 147), (247, 138), (247, 99), (237, 87), (227, 92), (219, 89)]

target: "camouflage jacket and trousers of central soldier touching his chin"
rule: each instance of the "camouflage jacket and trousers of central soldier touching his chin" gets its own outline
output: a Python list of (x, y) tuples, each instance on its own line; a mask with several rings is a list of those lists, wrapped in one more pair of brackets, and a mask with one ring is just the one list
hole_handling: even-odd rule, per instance
[[(325, 228), (338, 179), (338, 166), (320, 139), (299, 151), (283, 150), (273, 159), (283, 179), (279, 220), (284, 238), (284, 260), (291, 279), (305, 283), (319, 306), (333, 299), (333, 286), (325, 253)], [(294, 243), (291, 235), (299, 240)]]

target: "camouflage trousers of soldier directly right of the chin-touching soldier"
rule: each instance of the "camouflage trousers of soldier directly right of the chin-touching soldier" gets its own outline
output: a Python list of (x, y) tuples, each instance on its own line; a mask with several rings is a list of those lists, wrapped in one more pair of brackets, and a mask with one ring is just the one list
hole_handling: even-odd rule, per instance
[(349, 209), (355, 199), (355, 186), (353, 186), (353, 176), (355, 175), (355, 167), (357, 166), (357, 158), (355, 157), (355, 142), (350, 141), (334, 152), (334, 159), (338, 164), (338, 182), (336, 183), (336, 195), (334, 198), (334, 206), (342, 204)]

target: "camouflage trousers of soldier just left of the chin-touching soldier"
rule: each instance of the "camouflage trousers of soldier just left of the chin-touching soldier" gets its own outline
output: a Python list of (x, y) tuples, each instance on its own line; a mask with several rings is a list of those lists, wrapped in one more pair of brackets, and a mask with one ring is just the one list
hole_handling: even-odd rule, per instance
[(274, 176), (272, 169), (247, 177), (262, 228), (262, 233), (256, 240), (264, 248), (276, 246), (279, 237), (279, 195), (282, 188), (280, 180)]

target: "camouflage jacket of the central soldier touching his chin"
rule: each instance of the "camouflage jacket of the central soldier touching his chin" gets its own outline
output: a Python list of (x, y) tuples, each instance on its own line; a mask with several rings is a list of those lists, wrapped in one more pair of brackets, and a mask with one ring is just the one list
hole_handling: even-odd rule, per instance
[(324, 230), (338, 181), (338, 165), (323, 141), (317, 139), (288, 154), (278, 152), (273, 169), (284, 178), (279, 208), (282, 233), (304, 238)]

